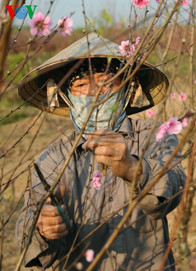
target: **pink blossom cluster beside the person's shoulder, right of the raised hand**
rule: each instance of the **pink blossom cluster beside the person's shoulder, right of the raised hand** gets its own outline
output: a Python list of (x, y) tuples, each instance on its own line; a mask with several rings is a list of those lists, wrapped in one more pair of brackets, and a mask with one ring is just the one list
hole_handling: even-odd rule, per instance
[(171, 117), (167, 122), (163, 123), (156, 134), (156, 141), (160, 142), (163, 140), (165, 134), (169, 135), (177, 135), (179, 134), (183, 128), (188, 126), (187, 118), (183, 118), (182, 120), (178, 120), (177, 117)]

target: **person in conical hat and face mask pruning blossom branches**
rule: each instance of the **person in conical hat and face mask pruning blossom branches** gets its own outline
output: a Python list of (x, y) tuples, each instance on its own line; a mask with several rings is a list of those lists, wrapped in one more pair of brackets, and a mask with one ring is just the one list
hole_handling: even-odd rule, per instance
[[(169, 82), (147, 62), (137, 71), (139, 62), (123, 69), (125, 63), (117, 44), (91, 33), (29, 72), (19, 84), (19, 94), (28, 104), (70, 116), (75, 126), (73, 133), (51, 144), (35, 162), (49, 185), (82, 135), (54, 191), (72, 230), (48, 200), (25, 254), (25, 267), (49, 268), (59, 263), (59, 270), (64, 270), (62, 259), (74, 243), (77, 248), (66, 268), (72, 265), (76, 270), (72, 263), (79, 261), (86, 270), (90, 264), (84, 257), (86, 249), (97, 255), (122, 221), (131, 184), (135, 200), (153, 183), (178, 144), (177, 137), (168, 134), (157, 142), (152, 121), (127, 117), (158, 104)], [(136, 71), (131, 79), (130, 69)], [(178, 192), (186, 178), (180, 158), (178, 152), (171, 161), (173, 167), (138, 202), (94, 270), (159, 270), (170, 242), (166, 215), (180, 202)], [(34, 196), (25, 194), (16, 226), (22, 249), (35, 216), (35, 200), (39, 203), (47, 192), (36, 171), (32, 189)], [(164, 270), (175, 270), (172, 251)]]

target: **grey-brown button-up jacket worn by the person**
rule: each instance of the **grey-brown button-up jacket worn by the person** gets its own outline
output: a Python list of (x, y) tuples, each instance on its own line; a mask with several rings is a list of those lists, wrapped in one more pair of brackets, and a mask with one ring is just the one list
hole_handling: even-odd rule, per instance
[[(131, 155), (141, 156), (151, 126), (152, 121), (131, 120), (127, 117), (124, 119), (120, 132), (127, 132), (124, 138)], [(130, 133), (131, 131), (140, 132)], [(53, 143), (36, 161), (49, 184), (56, 179), (70, 153), (76, 136), (77, 132), (73, 132), (69, 137)], [(71, 248), (75, 234), (79, 229), (76, 244), (111, 214), (114, 214), (106, 224), (71, 253), (67, 266), (73, 262), (88, 242), (89, 248), (92, 248), (97, 254), (127, 210), (127, 207), (122, 208), (122, 206), (129, 201), (129, 185), (123, 179), (114, 176), (109, 168), (102, 180), (101, 189), (96, 190), (93, 187), (91, 181), (92, 165), (94, 164), (94, 171), (99, 168), (99, 165), (94, 161), (91, 150), (85, 151), (81, 148), (83, 142), (84, 139), (81, 138), (69, 166), (61, 178), (61, 182), (64, 182), (67, 187), (63, 203), (67, 206), (69, 218), (73, 221), (73, 233), (58, 240), (47, 241), (35, 228), (32, 242), (25, 255), (26, 267), (48, 268), (51, 265), (55, 266)], [(156, 142), (155, 133), (151, 136), (142, 162), (143, 174), (134, 190), (135, 197), (156, 178), (165, 162), (171, 157), (177, 144), (176, 136), (166, 135), (164, 140), (159, 143)], [(178, 153), (172, 162), (175, 163), (180, 158), (181, 154)], [(185, 179), (181, 163), (169, 170), (135, 207), (108, 253), (101, 258), (94, 270), (158, 270), (169, 242), (166, 215), (178, 205), (180, 196), (170, 199), (179, 191), (180, 186), (184, 185)], [(88, 189), (89, 186), (90, 189)], [(39, 202), (46, 192), (35, 172), (33, 172), (32, 187), (35, 198)], [(24, 246), (24, 226), (27, 235), (35, 210), (32, 198), (29, 198), (29, 194), (26, 193), (25, 205), (16, 226), (19, 246), (22, 241)], [(83, 270), (86, 270), (89, 263), (86, 262), (85, 257), (82, 256), (79, 261), (84, 266)], [(62, 266), (63, 264), (60, 265), (59, 270), (62, 270)], [(175, 270), (172, 251), (165, 263), (164, 270)]]

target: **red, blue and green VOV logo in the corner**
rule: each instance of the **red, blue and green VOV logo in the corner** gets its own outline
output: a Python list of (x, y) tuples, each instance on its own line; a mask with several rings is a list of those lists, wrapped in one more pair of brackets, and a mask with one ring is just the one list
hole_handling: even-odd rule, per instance
[[(34, 5), (34, 9), (32, 10), (32, 5), (25, 5), (25, 6), (18, 6), (18, 5), (5, 5), (7, 8), (7, 11), (9, 12), (9, 16), (11, 19), (14, 18), (14, 14), (18, 19), (25, 19), (27, 14), (30, 19), (33, 18), (33, 14), (35, 12), (35, 9), (37, 5)], [(14, 6), (14, 10), (13, 10)]]

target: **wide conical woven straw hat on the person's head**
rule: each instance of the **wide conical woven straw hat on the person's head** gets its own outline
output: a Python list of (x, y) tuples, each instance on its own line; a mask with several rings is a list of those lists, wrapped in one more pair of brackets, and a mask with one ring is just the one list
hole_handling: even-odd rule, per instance
[[(58, 107), (48, 106), (47, 102), (47, 82), (52, 78), (55, 82), (60, 82), (65, 77), (65, 66), (74, 60), (85, 59), (87, 57), (112, 57), (123, 59), (119, 50), (119, 45), (106, 38), (99, 36), (96, 33), (87, 36), (68, 46), (58, 54), (47, 60), (38, 68), (29, 72), (19, 83), (19, 95), (21, 98), (40, 110), (49, 113), (70, 116), (69, 101), (62, 98), (62, 95), (57, 94)], [(164, 99), (169, 86), (169, 81), (166, 75), (158, 68), (154, 68), (151, 64), (144, 62), (140, 68), (141, 72), (137, 74), (142, 91), (146, 94), (148, 105), (144, 104), (140, 107), (131, 107), (128, 103), (126, 107), (127, 115), (144, 111), (153, 107)], [(67, 93), (66, 81), (60, 89)]]

